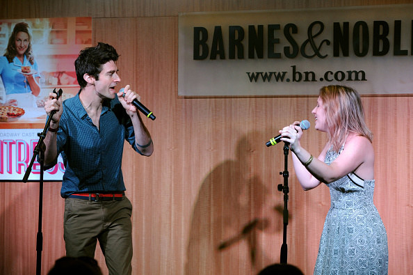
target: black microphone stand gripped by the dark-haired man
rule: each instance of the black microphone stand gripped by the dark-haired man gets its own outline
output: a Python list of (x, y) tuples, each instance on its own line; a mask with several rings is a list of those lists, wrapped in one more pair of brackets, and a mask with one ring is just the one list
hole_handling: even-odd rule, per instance
[[(53, 90), (53, 93), (56, 93), (56, 88)], [(59, 89), (58, 96), (56, 99), (62, 95), (62, 89)], [(37, 156), (39, 156), (39, 163), (40, 163), (40, 185), (39, 185), (39, 219), (38, 219), (38, 234), (36, 235), (36, 275), (40, 275), (42, 272), (42, 250), (43, 250), (43, 233), (42, 233), (42, 212), (43, 212), (43, 166), (44, 166), (44, 151), (46, 150), (46, 146), (44, 145), (44, 138), (47, 134), (47, 129), (49, 129), (49, 125), (51, 122), (51, 118), (53, 117), (56, 111), (51, 111), (50, 116), (47, 118), (46, 125), (44, 125), (43, 132), (38, 133), (39, 141), (38, 145), (35, 146), (33, 150), (33, 157), (31, 157), (31, 162), (26, 169), (26, 173), (24, 174), (23, 182), (27, 182), (29, 175), (31, 173), (31, 168)]]

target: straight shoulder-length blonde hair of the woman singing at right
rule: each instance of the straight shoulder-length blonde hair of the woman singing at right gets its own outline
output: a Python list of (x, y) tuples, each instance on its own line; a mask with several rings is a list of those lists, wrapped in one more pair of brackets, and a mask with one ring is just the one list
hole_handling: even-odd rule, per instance
[(320, 90), (323, 100), (327, 136), (333, 150), (339, 152), (348, 134), (365, 136), (371, 142), (373, 134), (364, 121), (364, 111), (359, 93), (346, 86), (324, 86)]

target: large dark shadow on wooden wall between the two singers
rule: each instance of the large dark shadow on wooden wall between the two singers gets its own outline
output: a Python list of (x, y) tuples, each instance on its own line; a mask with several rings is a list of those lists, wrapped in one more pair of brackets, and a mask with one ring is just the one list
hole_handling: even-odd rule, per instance
[(274, 262), (260, 235), (282, 232), (282, 206), (274, 205), (257, 175), (262, 140), (259, 132), (241, 137), (236, 159), (218, 164), (202, 182), (193, 207), (186, 275), (238, 274), (234, 267), (257, 274)]

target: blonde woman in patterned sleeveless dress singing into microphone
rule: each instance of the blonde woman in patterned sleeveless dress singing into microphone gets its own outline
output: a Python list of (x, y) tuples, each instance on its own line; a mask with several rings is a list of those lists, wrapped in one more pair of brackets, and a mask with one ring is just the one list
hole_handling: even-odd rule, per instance
[(359, 94), (346, 86), (325, 86), (311, 113), (316, 129), (328, 138), (318, 157), (300, 145), (299, 122), (280, 134), (290, 144), (302, 188), (314, 189), (323, 182), (330, 189), (331, 207), (314, 274), (387, 274), (387, 233), (373, 204), (373, 135)]

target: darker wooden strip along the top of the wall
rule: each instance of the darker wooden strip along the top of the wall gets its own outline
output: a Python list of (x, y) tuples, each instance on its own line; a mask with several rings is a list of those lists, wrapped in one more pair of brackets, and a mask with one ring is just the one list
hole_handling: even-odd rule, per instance
[(411, 0), (1, 0), (0, 18), (92, 16), (127, 18), (230, 10), (331, 8), (412, 3)]

